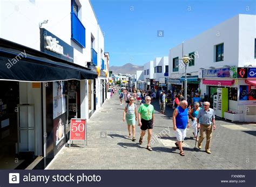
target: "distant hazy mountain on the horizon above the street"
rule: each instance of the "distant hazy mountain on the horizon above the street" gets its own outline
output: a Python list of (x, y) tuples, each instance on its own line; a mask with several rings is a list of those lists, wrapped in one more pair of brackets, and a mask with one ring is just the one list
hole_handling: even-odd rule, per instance
[(137, 70), (143, 70), (144, 66), (137, 66), (131, 63), (126, 63), (124, 66), (111, 66), (109, 69), (113, 74), (136, 74)]

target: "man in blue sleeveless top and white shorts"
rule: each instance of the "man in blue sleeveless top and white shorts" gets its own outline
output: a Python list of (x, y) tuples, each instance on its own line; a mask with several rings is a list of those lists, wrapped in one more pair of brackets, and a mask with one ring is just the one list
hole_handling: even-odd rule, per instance
[(177, 142), (175, 145), (180, 150), (180, 155), (185, 156), (182, 148), (182, 142), (186, 137), (186, 129), (190, 127), (190, 121), (188, 120), (188, 109), (187, 109), (187, 101), (183, 100), (180, 102), (180, 106), (178, 106), (172, 115), (173, 122), (173, 130), (176, 131)]

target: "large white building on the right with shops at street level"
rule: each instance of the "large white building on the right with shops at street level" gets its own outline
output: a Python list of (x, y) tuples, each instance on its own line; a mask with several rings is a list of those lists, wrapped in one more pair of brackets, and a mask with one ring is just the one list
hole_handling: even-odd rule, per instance
[[(237, 113), (240, 121), (255, 121), (255, 23), (255, 15), (237, 15), (185, 41), (183, 47), (181, 44), (171, 48), (169, 78), (172, 89), (178, 91), (181, 89), (179, 82), (184, 82), (185, 66), (179, 60), (183, 53), (194, 59), (186, 71), (189, 95), (199, 88), (201, 97), (208, 97), (213, 104), (217, 88), (228, 88), (228, 111)], [(248, 66), (251, 68), (242, 69)], [(242, 94), (247, 95), (243, 97)]]

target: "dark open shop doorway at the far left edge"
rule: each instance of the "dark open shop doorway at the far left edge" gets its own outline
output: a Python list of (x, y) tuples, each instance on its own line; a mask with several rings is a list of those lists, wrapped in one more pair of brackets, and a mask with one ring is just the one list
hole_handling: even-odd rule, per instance
[(0, 88), (0, 169), (15, 169), (24, 161), (17, 154), (19, 83), (0, 81)]

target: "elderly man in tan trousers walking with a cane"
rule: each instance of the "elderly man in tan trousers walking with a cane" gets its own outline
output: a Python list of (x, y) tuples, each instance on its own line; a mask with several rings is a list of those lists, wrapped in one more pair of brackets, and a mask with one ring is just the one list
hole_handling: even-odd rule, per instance
[[(200, 124), (199, 124), (200, 119)], [(209, 102), (204, 102), (204, 109), (199, 110), (197, 115), (197, 128), (200, 128), (198, 148), (202, 148), (202, 142), (206, 136), (205, 152), (211, 154), (212, 130), (216, 129), (214, 110), (210, 108)]]

